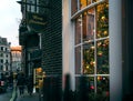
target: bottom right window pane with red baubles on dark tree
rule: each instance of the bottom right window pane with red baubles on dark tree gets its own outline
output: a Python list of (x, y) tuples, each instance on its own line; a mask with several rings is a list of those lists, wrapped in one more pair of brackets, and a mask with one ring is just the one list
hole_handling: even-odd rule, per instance
[(104, 99), (104, 101), (110, 101), (109, 77), (98, 77), (96, 85), (99, 98)]

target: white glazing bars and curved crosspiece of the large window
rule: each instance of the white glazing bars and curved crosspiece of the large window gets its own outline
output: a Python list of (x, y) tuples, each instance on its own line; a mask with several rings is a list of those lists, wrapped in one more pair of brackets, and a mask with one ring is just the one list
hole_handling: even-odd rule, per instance
[[(79, 0), (80, 1), (80, 0)], [(91, 0), (92, 2), (92, 0)], [(96, 20), (95, 20), (95, 17), (96, 17), (96, 10), (95, 10), (95, 7), (101, 4), (101, 3), (104, 3), (105, 0), (100, 0), (98, 2), (92, 2), (90, 6), (86, 6), (85, 8), (81, 9), (81, 10), (78, 10), (73, 16), (71, 16), (71, 20), (75, 20), (78, 17), (82, 17), (82, 13), (94, 8), (94, 29), (96, 30)], [(82, 19), (81, 19), (82, 21)], [(73, 21), (75, 22), (75, 21)], [(92, 40), (94, 42), (94, 48), (95, 48), (95, 53), (94, 53), (94, 60), (96, 61), (96, 42), (100, 41), (100, 40), (104, 40), (104, 39), (109, 39), (109, 37), (104, 37), (104, 38), (96, 38), (96, 32), (94, 30), (94, 39)], [(83, 44), (85, 43), (89, 43), (89, 41), (86, 42), (83, 42), (83, 36), (82, 36), (83, 31), (82, 31), (82, 23), (81, 23), (81, 43), (79, 44), (74, 44), (74, 50), (76, 50), (76, 48), (81, 47), (81, 74), (76, 74), (75, 73), (75, 78), (78, 77), (81, 77), (83, 74), (83, 65), (82, 65), (82, 61), (83, 61)], [(74, 33), (74, 37), (75, 37), (75, 33)], [(110, 55), (109, 55), (110, 57)], [(76, 62), (76, 61), (75, 61)], [(109, 67), (110, 67), (110, 62), (109, 62)], [(98, 65), (95, 63), (95, 67), (94, 67), (94, 74), (85, 74), (85, 77), (93, 77), (94, 78), (94, 92), (96, 93), (96, 87), (98, 87), (98, 77), (108, 77), (110, 78), (110, 68), (109, 68), (109, 74), (98, 74), (98, 70), (96, 70)], [(75, 70), (75, 69), (74, 69)], [(110, 82), (110, 79), (109, 79), (109, 82)], [(76, 85), (75, 85), (76, 87)], [(109, 88), (110, 90), (110, 88)]]

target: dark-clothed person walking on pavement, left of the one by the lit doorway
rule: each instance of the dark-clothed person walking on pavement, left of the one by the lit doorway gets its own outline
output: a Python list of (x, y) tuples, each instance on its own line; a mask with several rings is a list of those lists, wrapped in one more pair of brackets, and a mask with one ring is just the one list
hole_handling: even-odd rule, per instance
[(17, 87), (19, 89), (20, 95), (24, 94), (25, 77), (24, 73), (20, 73), (17, 80)]

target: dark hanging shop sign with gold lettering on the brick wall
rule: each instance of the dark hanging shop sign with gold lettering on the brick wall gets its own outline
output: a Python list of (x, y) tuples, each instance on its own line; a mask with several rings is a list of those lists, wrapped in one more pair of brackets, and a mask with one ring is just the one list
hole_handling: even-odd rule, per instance
[(31, 31), (42, 32), (47, 23), (48, 20), (45, 16), (28, 12), (28, 27)]

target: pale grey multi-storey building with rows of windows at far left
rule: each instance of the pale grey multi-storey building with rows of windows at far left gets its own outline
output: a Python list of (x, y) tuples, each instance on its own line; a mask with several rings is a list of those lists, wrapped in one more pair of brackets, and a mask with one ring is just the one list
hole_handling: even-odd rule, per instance
[(9, 75), (11, 70), (10, 42), (7, 38), (0, 37), (0, 73)]

